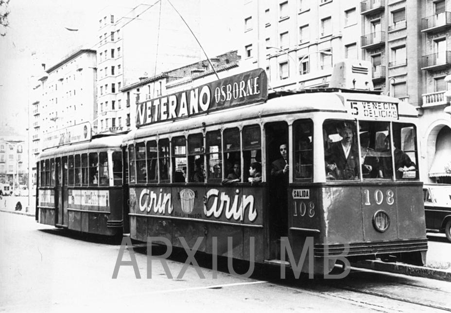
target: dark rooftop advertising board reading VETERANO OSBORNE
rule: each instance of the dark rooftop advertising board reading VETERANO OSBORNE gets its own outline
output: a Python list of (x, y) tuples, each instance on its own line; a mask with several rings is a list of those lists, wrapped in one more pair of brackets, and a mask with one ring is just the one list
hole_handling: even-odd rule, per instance
[(205, 114), (232, 106), (265, 101), (267, 98), (265, 71), (251, 70), (139, 103), (136, 126)]

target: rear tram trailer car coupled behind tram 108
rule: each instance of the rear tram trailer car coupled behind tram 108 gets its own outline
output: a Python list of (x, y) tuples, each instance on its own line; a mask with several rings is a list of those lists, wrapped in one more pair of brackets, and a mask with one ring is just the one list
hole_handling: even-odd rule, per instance
[(44, 150), (37, 162), (36, 221), (107, 236), (122, 234), (124, 227), (128, 232), (122, 139), (107, 136)]

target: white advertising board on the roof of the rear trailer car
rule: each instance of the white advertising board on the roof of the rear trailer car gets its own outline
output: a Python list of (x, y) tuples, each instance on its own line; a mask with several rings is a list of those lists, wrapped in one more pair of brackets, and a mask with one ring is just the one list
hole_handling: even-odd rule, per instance
[(46, 134), (42, 141), (42, 150), (89, 140), (91, 140), (91, 123), (84, 122)]

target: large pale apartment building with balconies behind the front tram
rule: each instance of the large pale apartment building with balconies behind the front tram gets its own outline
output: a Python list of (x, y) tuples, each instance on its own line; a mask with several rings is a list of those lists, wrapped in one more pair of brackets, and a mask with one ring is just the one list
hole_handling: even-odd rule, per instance
[(374, 88), (418, 110), (420, 179), (451, 183), (450, 11), (451, 0), (245, 0), (243, 65), (283, 90), (327, 87), (343, 58), (370, 61)]

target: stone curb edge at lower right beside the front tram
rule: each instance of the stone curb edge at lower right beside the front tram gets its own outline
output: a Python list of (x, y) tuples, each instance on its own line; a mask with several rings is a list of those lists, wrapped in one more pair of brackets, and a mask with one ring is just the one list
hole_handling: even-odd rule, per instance
[(358, 263), (351, 263), (351, 265), (358, 268), (366, 268), (382, 272), (451, 281), (450, 270), (440, 270), (398, 262), (385, 263), (382, 261), (362, 261)]

